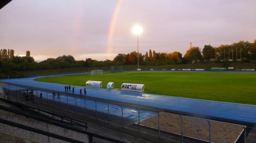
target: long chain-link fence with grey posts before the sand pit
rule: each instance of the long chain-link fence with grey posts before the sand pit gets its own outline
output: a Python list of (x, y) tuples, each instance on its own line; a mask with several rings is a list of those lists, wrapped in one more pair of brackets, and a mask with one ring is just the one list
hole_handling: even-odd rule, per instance
[(9, 96), (24, 98), (23, 95), (31, 94), (27, 91), (32, 91), (33, 100), (30, 101), (35, 104), (65, 109), (107, 124), (115, 124), (158, 137), (177, 135), (181, 142), (186, 137), (210, 143), (236, 143), (240, 137), (240, 140), (242, 138), (246, 143), (246, 126), (110, 104), (91, 100), (85, 96), (62, 95), (58, 91), (31, 90), (6, 83), (1, 83), (1, 87)]

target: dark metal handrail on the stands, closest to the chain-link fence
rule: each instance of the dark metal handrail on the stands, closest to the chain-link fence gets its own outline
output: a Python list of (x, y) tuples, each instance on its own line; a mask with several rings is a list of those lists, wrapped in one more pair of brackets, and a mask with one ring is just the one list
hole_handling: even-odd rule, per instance
[[(6, 96), (9, 97), (10, 95), (5, 95), (5, 94), (0, 93), (0, 96), (6, 98)], [(55, 111), (53, 111), (53, 110), (50, 110), (50, 109), (47, 109), (47, 108), (44, 108), (44, 107), (41, 107), (41, 106), (32, 104), (32, 103), (30, 103), (30, 102), (26, 102), (26, 101), (20, 100), (20, 99), (15, 98), (15, 97), (12, 97), (12, 98), (11, 98), (12, 101), (15, 101), (15, 100), (13, 100), (13, 99), (16, 99), (16, 100), (17, 100), (16, 102), (19, 102), (19, 103), (22, 103), (22, 102), (23, 102), (23, 103), (25, 103), (25, 104), (22, 103), (22, 104), (25, 105), (25, 106), (32, 105), (32, 106), (37, 107), (37, 108), (35, 108), (35, 109), (40, 109), (40, 108), (41, 108), (41, 109), (44, 109), (44, 110), (47, 110), (47, 111), (51, 112), (51, 114), (55, 113), (55, 115), (60, 115), (60, 116), (66, 117), (66, 118), (70, 118), (70, 121), (72, 121), (72, 122), (78, 121), (78, 122), (84, 123), (86, 126), (87, 126), (87, 124), (88, 124), (87, 122), (81, 121), (80, 119), (71, 117), (71, 116), (69, 116), (69, 115), (64, 115), (64, 114), (61, 114), (61, 113), (59, 113), (59, 112), (55, 112)], [(9, 100), (9, 99), (8, 99), (8, 100)], [(20, 101), (22, 101), (22, 102), (20, 102)], [(65, 119), (65, 120), (67, 120), (67, 119)], [(75, 123), (76, 123), (76, 122), (75, 122)]]

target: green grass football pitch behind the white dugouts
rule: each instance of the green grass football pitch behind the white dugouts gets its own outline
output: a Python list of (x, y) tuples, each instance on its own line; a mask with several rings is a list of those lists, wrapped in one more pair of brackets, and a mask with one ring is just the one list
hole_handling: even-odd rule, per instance
[(114, 88), (136, 83), (145, 84), (145, 93), (150, 94), (256, 105), (256, 73), (122, 72), (35, 79), (78, 86), (88, 80), (102, 81), (102, 88), (108, 82), (114, 82)]

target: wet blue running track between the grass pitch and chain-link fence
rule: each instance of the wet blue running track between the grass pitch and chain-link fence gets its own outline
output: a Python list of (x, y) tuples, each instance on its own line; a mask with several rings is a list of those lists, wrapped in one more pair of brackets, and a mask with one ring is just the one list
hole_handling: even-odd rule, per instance
[[(64, 92), (64, 85), (63, 84), (53, 84), (53, 83), (45, 83), (45, 82), (38, 82), (33, 81), (33, 79), (38, 77), (32, 78), (23, 78), (23, 79), (1, 79), (0, 81), (14, 83), (14, 84), (21, 84), (30, 87), (38, 87), (44, 88), (49, 90), (61, 91)], [(85, 84), (85, 83), (84, 83)], [(106, 84), (106, 83), (103, 83)], [(72, 87), (72, 86), (71, 86)], [(79, 90), (84, 89), (84, 87), (75, 88), (75, 94), (79, 95)], [(44, 95), (45, 96), (45, 95)], [(150, 95), (150, 94), (141, 94), (141, 93), (130, 93), (130, 92), (121, 92), (118, 90), (104, 90), (104, 89), (95, 89), (95, 88), (87, 88), (87, 96), (96, 97), (96, 98), (103, 98), (113, 101), (121, 101), (131, 104), (140, 104), (150, 107), (157, 107), (162, 109), (169, 109), (178, 112), (188, 112), (192, 114), (199, 114), (205, 116), (212, 116), (216, 118), (224, 118), (242, 122), (250, 122), (256, 123), (256, 106), (254, 105), (246, 105), (246, 104), (233, 104), (233, 103), (226, 103), (226, 102), (218, 102), (218, 101), (206, 101), (206, 100), (198, 100), (198, 99), (190, 99), (190, 98), (178, 98), (178, 97), (171, 97), (171, 96), (162, 96), (162, 95)], [(52, 97), (50, 95), (50, 97)], [(64, 95), (61, 97), (61, 102), (67, 102), (66, 96)], [(73, 98), (73, 97), (68, 97)], [(55, 98), (55, 100), (57, 100)], [(59, 100), (59, 99), (58, 99)], [(84, 101), (79, 101), (78, 99), (77, 104), (79, 106), (84, 106)], [(69, 99), (70, 101), (70, 99)], [(86, 101), (89, 103), (89, 101)], [(74, 104), (75, 100), (71, 104)], [(88, 108), (95, 109), (95, 103), (91, 103)], [(106, 105), (104, 105), (106, 107)], [(111, 105), (115, 107), (116, 105)], [(106, 108), (102, 105), (101, 112), (107, 112)], [(115, 107), (116, 109), (119, 107)], [(116, 112), (117, 113), (117, 112)], [(114, 114), (114, 113), (111, 113)], [(134, 115), (125, 115), (127, 118), (131, 118), (136, 120), (137, 112), (134, 111)], [(154, 115), (153, 112), (145, 113), (143, 118), (147, 118), (150, 115)], [(142, 119), (143, 119), (142, 118)]]

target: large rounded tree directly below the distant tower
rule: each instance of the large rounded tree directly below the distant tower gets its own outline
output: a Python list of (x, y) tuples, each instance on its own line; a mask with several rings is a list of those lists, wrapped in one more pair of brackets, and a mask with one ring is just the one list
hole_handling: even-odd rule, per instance
[(197, 62), (198, 60), (201, 60), (201, 50), (199, 47), (192, 47), (189, 48), (189, 50), (186, 51), (186, 54), (184, 55), (184, 59), (189, 62)]

